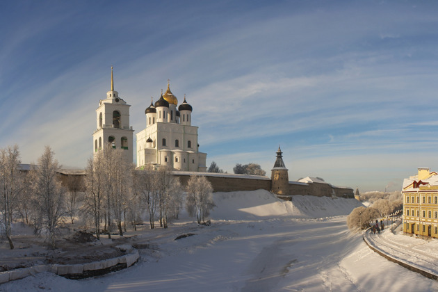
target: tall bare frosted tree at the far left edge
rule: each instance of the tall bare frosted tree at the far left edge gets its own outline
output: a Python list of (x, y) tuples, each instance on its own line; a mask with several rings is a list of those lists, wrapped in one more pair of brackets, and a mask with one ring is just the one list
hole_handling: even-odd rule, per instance
[(0, 184), (3, 198), (3, 227), (11, 250), (14, 249), (10, 229), (13, 220), (13, 206), (18, 202), (21, 191), (19, 184), (19, 151), (18, 146), (0, 149)]

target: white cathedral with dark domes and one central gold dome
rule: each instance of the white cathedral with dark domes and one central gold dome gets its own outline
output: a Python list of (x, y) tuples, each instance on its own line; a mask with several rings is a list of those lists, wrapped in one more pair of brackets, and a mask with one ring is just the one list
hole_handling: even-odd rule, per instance
[(168, 165), (174, 170), (206, 172), (206, 153), (199, 152), (198, 127), (192, 126), (193, 108), (186, 102), (178, 107), (170, 91), (146, 108), (146, 128), (136, 134), (137, 167)]

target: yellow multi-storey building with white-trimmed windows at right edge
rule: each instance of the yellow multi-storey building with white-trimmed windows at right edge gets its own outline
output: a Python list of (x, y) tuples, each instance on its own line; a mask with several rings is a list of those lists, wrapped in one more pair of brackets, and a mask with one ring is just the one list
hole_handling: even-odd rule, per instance
[(403, 181), (403, 232), (438, 238), (438, 174), (419, 168)]

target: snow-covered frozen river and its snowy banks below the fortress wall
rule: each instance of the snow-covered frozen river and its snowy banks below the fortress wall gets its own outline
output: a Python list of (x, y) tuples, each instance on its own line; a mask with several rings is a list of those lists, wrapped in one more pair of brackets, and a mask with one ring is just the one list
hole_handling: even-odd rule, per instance
[(0, 291), (438, 290), (438, 282), (387, 261), (348, 231), (355, 200), (295, 196), (284, 202), (264, 190), (215, 193), (214, 200), (211, 226), (181, 214), (169, 229), (132, 237), (149, 248), (140, 249), (131, 268), (81, 280), (42, 273)]

